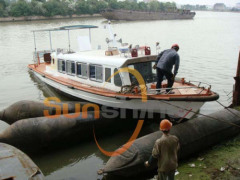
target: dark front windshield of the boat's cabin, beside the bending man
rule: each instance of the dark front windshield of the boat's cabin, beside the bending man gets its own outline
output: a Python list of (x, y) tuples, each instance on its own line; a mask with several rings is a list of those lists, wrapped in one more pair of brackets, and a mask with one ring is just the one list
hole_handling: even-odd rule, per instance
[[(155, 61), (141, 62), (136, 64), (128, 65), (129, 68), (137, 70), (143, 77), (145, 83), (152, 83), (157, 81), (156, 69), (153, 69)], [(132, 84), (138, 84), (136, 77), (129, 73)]]

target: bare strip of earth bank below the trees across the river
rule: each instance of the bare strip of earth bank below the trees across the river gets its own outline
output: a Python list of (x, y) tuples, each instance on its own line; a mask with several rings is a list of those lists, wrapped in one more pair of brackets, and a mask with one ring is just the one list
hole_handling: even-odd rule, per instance
[(75, 19), (75, 18), (95, 18), (95, 17), (102, 17), (101, 14), (84, 14), (84, 15), (72, 15), (72, 16), (52, 16), (52, 17), (45, 17), (45, 16), (20, 16), (20, 17), (0, 17), (0, 23), (3, 22), (20, 22), (20, 21), (40, 21), (40, 20), (58, 20), (58, 19)]

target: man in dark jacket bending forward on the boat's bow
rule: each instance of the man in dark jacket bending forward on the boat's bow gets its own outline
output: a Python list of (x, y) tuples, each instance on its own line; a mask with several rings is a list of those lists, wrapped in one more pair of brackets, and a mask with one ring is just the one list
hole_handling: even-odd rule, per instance
[[(168, 80), (167, 84), (167, 93), (173, 93), (169, 92), (171, 90), (171, 87), (173, 86), (174, 83), (174, 78), (176, 74), (178, 73), (178, 68), (179, 68), (179, 63), (180, 63), (180, 58), (178, 55), (178, 50), (179, 46), (178, 44), (172, 45), (171, 49), (167, 49), (162, 51), (156, 60), (155, 65), (153, 66), (154, 69), (157, 68), (157, 85), (156, 88), (158, 89), (158, 92), (160, 92), (160, 88), (162, 87), (162, 81), (163, 81), (163, 76), (165, 76)], [(174, 73), (172, 73), (174, 65)]]

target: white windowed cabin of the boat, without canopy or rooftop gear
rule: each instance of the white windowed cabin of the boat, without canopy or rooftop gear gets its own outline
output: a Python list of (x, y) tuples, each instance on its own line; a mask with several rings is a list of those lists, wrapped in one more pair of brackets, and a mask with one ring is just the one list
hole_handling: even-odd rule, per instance
[(132, 74), (116, 73), (123, 67), (137, 70), (149, 86), (156, 82), (156, 70), (152, 68), (155, 59), (156, 56), (137, 58), (106, 56), (104, 50), (70, 54), (53, 52), (46, 72), (83, 84), (120, 91), (122, 86), (138, 84)]

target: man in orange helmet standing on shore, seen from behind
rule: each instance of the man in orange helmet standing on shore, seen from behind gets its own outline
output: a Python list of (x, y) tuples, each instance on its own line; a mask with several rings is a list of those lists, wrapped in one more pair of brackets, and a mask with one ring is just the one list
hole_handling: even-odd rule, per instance
[(171, 128), (172, 123), (169, 120), (161, 121), (160, 130), (163, 135), (155, 142), (152, 155), (145, 162), (145, 166), (148, 167), (154, 160), (158, 161), (158, 180), (174, 180), (175, 170), (178, 166), (179, 140), (176, 136), (169, 134)]

